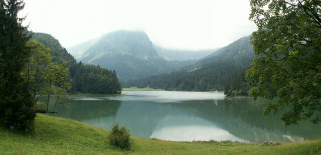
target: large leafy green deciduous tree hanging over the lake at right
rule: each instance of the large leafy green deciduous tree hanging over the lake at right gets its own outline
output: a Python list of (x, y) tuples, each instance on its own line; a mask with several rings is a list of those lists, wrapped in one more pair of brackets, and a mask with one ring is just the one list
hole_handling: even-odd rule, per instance
[[(268, 6), (268, 10), (266, 9)], [(284, 125), (321, 120), (321, 2), (251, 1), (250, 19), (258, 26), (251, 43), (257, 57), (247, 71), (250, 94), (274, 98), (264, 110), (275, 114), (291, 107)]]

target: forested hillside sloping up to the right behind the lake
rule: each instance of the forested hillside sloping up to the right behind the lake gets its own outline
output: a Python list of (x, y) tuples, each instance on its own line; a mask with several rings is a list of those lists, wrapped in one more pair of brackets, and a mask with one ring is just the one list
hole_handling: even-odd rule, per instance
[(195, 65), (167, 74), (133, 80), (127, 82), (124, 87), (210, 91), (224, 90), (225, 83), (227, 83), (232, 89), (233, 77), (247, 69), (253, 61), (254, 53), (249, 39), (250, 37), (243, 37), (215, 52), (219, 53), (218, 55), (198, 61)]

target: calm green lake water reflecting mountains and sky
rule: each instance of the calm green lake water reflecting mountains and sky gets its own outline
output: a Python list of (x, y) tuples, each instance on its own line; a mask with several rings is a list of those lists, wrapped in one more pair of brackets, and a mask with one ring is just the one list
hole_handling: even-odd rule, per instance
[(57, 114), (110, 130), (114, 121), (132, 136), (176, 141), (232, 140), (261, 143), (321, 138), (321, 125), (283, 127), (281, 113), (267, 118), (269, 100), (224, 98), (217, 92), (123, 91), (124, 96), (72, 96)]

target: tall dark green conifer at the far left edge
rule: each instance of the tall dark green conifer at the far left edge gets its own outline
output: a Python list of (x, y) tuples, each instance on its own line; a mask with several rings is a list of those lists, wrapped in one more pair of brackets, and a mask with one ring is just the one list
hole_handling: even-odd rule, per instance
[(24, 131), (34, 129), (35, 111), (29, 81), (22, 76), (31, 51), (24, 18), (17, 14), (23, 1), (0, 1), (0, 125)]

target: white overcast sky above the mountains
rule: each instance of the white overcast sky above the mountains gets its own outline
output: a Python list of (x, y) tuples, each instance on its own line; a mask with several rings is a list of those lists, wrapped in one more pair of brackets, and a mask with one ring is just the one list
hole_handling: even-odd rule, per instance
[(20, 16), (33, 32), (71, 47), (115, 30), (144, 31), (154, 45), (200, 50), (250, 35), (249, 0), (25, 0)]

